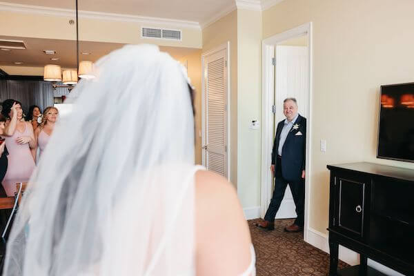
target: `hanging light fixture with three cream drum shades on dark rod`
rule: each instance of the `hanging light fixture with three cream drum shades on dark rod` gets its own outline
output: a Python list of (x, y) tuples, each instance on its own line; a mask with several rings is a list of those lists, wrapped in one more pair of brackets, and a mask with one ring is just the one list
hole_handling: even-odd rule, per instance
[(81, 61), (79, 63), (79, 23), (78, 23), (78, 1), (75, 0), (76, 4), (76, 67), (77, 70), (63, 70), (61, 72), (61, 66), (55, 64), (48, 64), (44, 67), (43, 79), (45, 81), (62, 81), (65, 85), (60, 86), (53, 83), (53, 88), (63, 87), (73, 88), (78, 81), (78, 77), (82, 79), (93, 79), (93, 62), (92, 61)]

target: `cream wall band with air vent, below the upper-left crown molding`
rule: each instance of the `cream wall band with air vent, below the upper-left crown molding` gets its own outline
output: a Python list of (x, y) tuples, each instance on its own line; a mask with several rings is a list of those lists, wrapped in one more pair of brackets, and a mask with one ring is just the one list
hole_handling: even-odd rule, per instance
[[(76, 25), (70, 25), (68, 23), (70, 19), (75, 19), (75, 17), (1, 11), (0, 35), (76, 40)], [(150, 27), (171, 28), (170, 26), (156, 25)], [(182, 30), (182, 41), (142, 39), (141, 23), (79, 18), (79, 40), (81, 41), (152, 43), (159, 46), (201, 48), (201, 30), (196, 28), (180, 29)]]

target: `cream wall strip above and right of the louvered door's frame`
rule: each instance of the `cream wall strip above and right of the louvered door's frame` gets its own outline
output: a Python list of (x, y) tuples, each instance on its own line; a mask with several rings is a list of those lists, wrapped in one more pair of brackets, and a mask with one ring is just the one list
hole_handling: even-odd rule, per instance
[(230, 41), (230, 181), (237, 186), (237, 10), (203, 29), (203, 53)]

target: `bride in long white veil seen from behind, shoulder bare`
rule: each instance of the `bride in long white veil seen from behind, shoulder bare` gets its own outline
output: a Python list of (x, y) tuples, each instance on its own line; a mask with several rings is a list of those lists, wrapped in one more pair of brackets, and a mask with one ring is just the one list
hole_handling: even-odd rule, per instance
[(255, 275), (235, 189), (194, 165), (179, 63), (141, 45), (96, 65), (30, 179), (4, 275)]

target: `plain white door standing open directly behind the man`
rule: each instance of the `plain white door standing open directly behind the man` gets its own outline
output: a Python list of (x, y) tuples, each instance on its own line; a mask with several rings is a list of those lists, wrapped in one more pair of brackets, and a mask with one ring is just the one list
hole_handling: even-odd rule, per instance
[[(286, 119), (283, 101), (288, 97), (297, 99), (299, 114), (308, 114), (308, 48), (306, 46), (276, 46), (275, 59), (275, 132), (277, 123)], [(289, 186), (276, 219), (296, 217), (295, 203)]]

